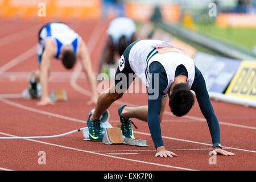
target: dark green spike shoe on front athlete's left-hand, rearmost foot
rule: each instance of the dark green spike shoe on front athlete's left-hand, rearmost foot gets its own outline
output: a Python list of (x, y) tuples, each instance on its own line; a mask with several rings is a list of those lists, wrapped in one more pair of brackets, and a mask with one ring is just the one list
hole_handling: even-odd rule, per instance
[(98, 119), (90, 120), (92, 114), (89, 114), (87, 119), (87, 126), (89, 130), (89, 138), (94, 142), (101, 142), (103, 139), (103, 135), (101, 133), (101, 123)]

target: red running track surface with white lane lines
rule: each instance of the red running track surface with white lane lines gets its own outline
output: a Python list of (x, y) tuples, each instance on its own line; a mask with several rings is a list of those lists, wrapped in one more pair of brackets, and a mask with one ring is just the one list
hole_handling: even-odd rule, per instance
[[(59, 61), (52, 61), (49, 90), (64, 88), (68, 101), (55, 106), (36, 106), (36, 101), (3, 98), (20, 94), (28, 85), (27, 75), (37, 67), (38, 28), (46, 22), (0, 22), (0, 137), (56, 135), (86, 126), (88, 113), (94, 106), (88, 82), (79, 64), (65, 70)], [(106, 22), (67, 22), (88, 45), (94, 72), (106, 39)], [(9, 31), (6, 31), (6, 30)], [(31, 49), (32, 48), (32, 49)], [(29, 51), (30, 50), (30, 51)], [(10, 64), (10, 62), (12, 64)], [(58, 76), (59, 74), (59, 76)], [(63, 77), (63, 75), (65, 77)], [(9, 95), (6, 95), (9, 94)], [(125, 94), (110, 108), (110, 123), (119, 125), (117, 109), (121, 104), (146, 105), (146, 94)], [(106, 145), (82, 140), (82, 133), (60, 138), (33, 140), (0, 140), (0, 169), (12, 170), (255, 170), (256, 115), (255, 108), (212, 101), (220, 121), (221, 142), (235, 156), (217, 156), (210, 165), (208, 152), (211, 138), (196, 103), (182, 118), (174, 117), (168, 107), (161, 123), (164, 144), (175, 152), (175, 158), (155, 158), (154, 143), (147, 123), (135, 119), (135, 138), (146, 139), (150, 147)], [(38, 163), (39, 151), (46, 152), (46, 164)]]

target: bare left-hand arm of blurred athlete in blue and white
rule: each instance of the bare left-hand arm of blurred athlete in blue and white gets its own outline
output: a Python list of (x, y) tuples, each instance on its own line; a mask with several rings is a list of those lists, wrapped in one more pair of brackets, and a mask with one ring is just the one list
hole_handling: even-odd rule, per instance
[(42, 87), (41, 100), (37, 103), (39, 106), (51, 104), (53, 102), (48, 97), (48, 77), (51, 72), (51, 60), (55, 53), (55, 46), (53, 40), (46, 40), (46, 46), (42, 55), (42, 61), (40, 63), (40, 84)]

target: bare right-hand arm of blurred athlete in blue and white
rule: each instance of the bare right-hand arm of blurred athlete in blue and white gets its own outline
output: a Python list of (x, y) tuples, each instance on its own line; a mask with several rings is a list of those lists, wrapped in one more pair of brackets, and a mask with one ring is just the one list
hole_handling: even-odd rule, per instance
[(92, 90), (92, 97), (87, 104), (96, 104), (98, 98), (96, 78), (93, 73), (92, 63), (90, 61), (88, 49), (83, 40), (81, 40), (80, 42), (79, 58), (81, 60), (82, 68), (85, 72), (86, 78), (88, 78), (90, 89)]

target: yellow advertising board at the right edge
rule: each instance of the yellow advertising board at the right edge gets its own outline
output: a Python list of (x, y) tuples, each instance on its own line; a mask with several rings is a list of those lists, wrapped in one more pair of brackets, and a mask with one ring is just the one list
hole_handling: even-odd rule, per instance
[(225, 94), (256, 100), (256, 61), (242, 61)]

